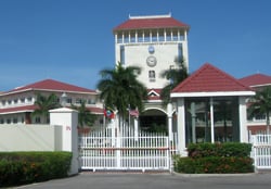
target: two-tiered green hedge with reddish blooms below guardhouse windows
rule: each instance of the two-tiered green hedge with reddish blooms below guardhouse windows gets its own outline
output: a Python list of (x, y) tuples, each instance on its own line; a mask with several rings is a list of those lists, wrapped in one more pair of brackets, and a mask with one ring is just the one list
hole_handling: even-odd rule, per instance
[(250, 143), (191, 143), (188, 158), (175, 158), (175, 171), (186, 174), (254, 172)]

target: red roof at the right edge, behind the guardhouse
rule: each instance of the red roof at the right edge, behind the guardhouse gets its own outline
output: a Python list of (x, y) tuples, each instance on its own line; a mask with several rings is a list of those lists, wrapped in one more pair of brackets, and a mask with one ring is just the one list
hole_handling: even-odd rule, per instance
[(238, 79), (242, 84), (247, 86), (271, 85), (271, 76), (264, 74), (254, 74)]

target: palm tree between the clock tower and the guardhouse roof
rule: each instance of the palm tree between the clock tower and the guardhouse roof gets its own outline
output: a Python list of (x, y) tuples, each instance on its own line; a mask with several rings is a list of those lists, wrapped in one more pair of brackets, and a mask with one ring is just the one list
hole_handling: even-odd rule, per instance
[(160, 73), (160, 77), (169, 80), (169, 84), (160, 91), (164, 105), (167, 105), (170, 102), (170, 91), (189, 76), (183, 59), (176, 58), (175, 63), (176, 68), (175, 66), (170, 66), (169, 70)]

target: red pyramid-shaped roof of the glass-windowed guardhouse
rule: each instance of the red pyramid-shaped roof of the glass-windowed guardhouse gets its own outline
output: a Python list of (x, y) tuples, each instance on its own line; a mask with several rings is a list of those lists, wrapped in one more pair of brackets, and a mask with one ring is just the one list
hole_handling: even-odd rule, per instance
[(251, 89), (234, 77), (209, 63), (179, 84), (172, 92), (223, 92), (251, 91)]

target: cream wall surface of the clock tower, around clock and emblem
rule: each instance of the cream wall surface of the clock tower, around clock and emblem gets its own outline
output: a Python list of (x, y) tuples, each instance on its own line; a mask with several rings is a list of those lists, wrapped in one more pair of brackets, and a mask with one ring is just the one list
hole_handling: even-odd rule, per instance
[[(143, 83), (147, 88), (163, 88), (168, 84), (168, 80), (162, 78), (162, 72), (169, 70), (170, 65), (176, 65), (175, 59), (178, 56), (178, 43), (183, 43), (183, 55), (188, 63), (188, 49), (186, 41), (177, 42), (160, 42), (160, 43), (127, 43), (125, 45), (125, 64), (126, 66), (136, 65), (142, 67), (141, 75), (138, 79)], [(116, 63), (120, 61), (120, 46), (117, 43), (115, 47)], [(153, 46), (155, 52), (151, 54), (149, 47)], [(154, 55), (157, 59), (157, 64), (154, 67), (146, 65), (146, 59)], [(155, 81), (150, 81), (149, 71), (155, 71)]]

